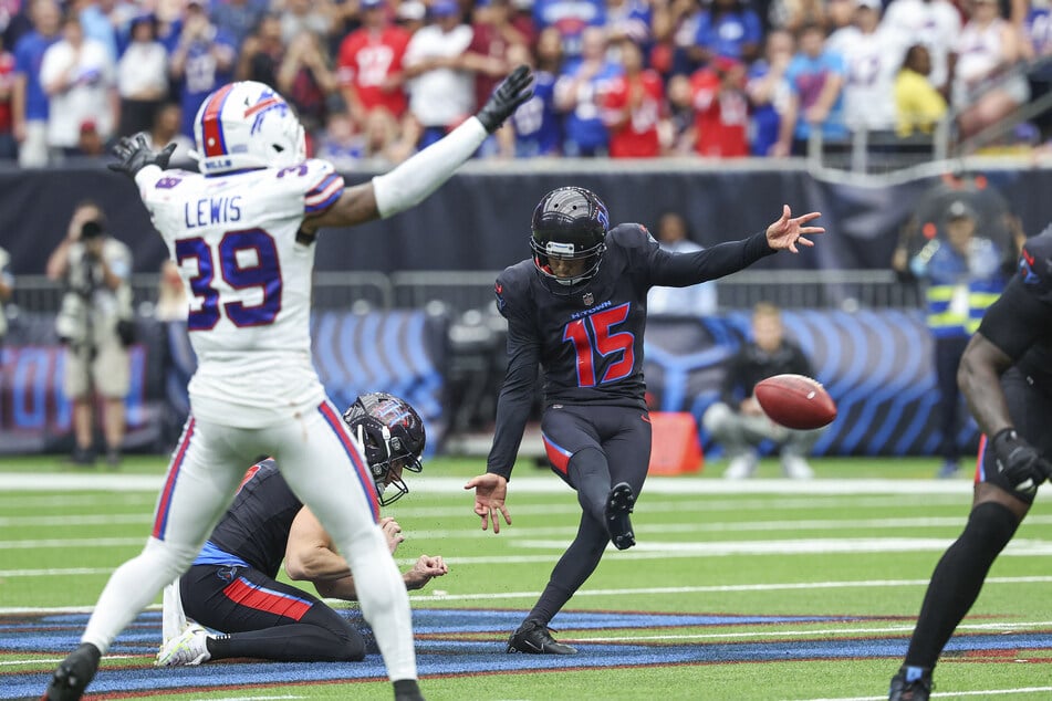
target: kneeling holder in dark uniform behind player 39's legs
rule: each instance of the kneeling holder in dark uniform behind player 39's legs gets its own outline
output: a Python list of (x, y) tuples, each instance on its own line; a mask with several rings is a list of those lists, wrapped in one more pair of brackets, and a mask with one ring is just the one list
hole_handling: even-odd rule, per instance
[[(420, 471), (426, 440), (420, 416), (403, 399), (371, 393), (358, 397), (343, 419), (365, 449), (381, 505), (397, 501), (409, 491), (404, 472)], [(381, 525), (394, 554), (405, 537), (402, 527), (390, 517)], [(268, 459), (249, 468), (194, 565), (165, 589), (165, 642), (156, 665), (235, 657), (361, 660), (365, 641), (346, 618), (274, 578), (282, 559), (290, 578), (311, 582), (322, 597), (357, 599), (354, 577), (332, 537), (289, 489), (277, 462)], [(441, 557), (420, 555), (403, 579), (406, 589), (419, 589), (448, 571)], [(202, 626), (228, 635), (209, 636)]]

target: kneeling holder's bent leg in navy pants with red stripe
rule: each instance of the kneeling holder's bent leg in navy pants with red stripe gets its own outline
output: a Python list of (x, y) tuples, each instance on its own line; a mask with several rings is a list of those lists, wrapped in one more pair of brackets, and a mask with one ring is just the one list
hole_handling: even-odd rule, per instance
[(179, 588), (190, 618), (226, 634), (201, 641), (206, 659), (352, 662), (365, 657), (362, 635), (343, 616), (258, 569), (195, 565)]

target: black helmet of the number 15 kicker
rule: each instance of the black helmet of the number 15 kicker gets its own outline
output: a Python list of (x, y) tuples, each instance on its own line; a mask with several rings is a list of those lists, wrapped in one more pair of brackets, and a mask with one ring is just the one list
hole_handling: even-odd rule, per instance
[[(533, 264), (553, 292), (565, 292), (591, 280), (600, 269), (606, 250), (610, 213), (595, 192), (579, 187), (556, 188), (545, 195), (533, 210)], [(584, 270), (573, 278), (559, 278), (550, 259), (583, 260)]]

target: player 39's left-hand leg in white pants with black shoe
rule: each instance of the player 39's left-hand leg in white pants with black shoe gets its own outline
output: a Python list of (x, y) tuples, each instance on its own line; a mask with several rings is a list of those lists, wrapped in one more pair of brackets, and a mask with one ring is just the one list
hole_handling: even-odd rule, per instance
[[(143, 552), (117, 567), (87, 621), (81, 646), (55, 671), (46, 699), (79, 699), (113, 639), (189, 567), (233, 498), (242, 471), (221, 429), (191, 417), (157, 500)], [(227, 461), (226, 463), (223, 461)]]

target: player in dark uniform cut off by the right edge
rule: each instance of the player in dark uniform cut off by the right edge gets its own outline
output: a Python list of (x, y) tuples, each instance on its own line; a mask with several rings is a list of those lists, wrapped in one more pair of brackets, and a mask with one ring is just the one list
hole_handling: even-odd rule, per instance
[(893, 701), (927, 701), (931, 670), (979, 597), (998, 554), (1052, 477), (1052, 229), (1023, 247), (1017, 274), (986, 312), (957, 370), (982, 430), (971, 513), (935, 567)]

